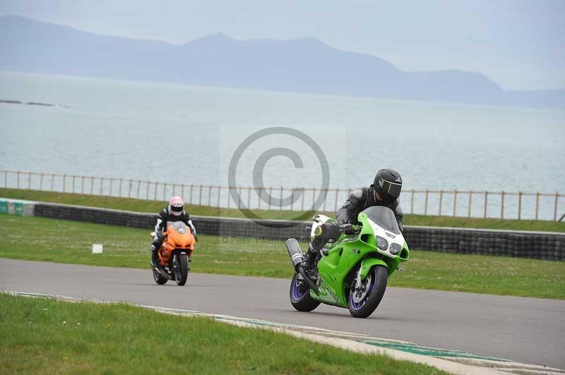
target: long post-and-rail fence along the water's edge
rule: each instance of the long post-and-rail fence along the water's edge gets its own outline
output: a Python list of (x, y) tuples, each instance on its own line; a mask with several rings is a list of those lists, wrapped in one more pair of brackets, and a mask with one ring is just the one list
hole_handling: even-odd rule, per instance
[[(0, 186), (6, 188), (70, 192), (107, 197), (127, 197), (167, 201), (180, 195), (188, 204), (239, 209), (266, 209), (304, 211), (311, 209), (316, 197), (322, 194), (322, 211), (335, 211), (354, 189), (316, 189), (316, 187), (228, 187), (201, 184), (160, 183), (129, 178), (76, 176), (58, 173), (27, 171), (0, 171)], [(232, 197), (237, 192), (237, 199)], [(265, 195), (268, 199), (261, 199)], [(278, 197), (275, 197), (277, 195)], [(291, 197), (291, 204), (283, 206), (283, 197)], [(295, 199), (296, 198), (296, 199)], [(558, 192), (492, 192), (473, 190), (415, 190), (405, 189), (403, 209), (408, 214), (458, 216), (498, 219), (560, 220), (558, 208), (565, 195)], [(277, 199), (278, 205), (271, 204)], [(561, 216), (563, 219), (563, 216)]]

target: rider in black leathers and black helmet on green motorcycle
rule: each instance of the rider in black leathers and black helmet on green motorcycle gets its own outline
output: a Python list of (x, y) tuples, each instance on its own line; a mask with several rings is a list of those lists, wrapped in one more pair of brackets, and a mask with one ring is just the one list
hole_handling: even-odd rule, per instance
[[(376, 173), (374, 182), (369, 187), (361, 187), (353, 191), (349, 199), (345, 201), (343, 206), (338, 209), (336, 219), (340, 229), (345, 234), (353, 234), (352, 224), (357, 224), (357, 215), (367, 207), (371, 206), (385, 206), (392, 209), (398, 228), (404, 232), (402, 225), (403, 212), (398, 202), (398, 196), (402, 190), (402, 178), (400, 173), (393, 169), (381, 169)], [(314, 263), (314, 258), (318, 254), (321, 247), (323, 247), (325, 240), (321, 242), (312, 242), (308, 246), (308, 251), (304, 256), (305, 268), (310, 268)]]

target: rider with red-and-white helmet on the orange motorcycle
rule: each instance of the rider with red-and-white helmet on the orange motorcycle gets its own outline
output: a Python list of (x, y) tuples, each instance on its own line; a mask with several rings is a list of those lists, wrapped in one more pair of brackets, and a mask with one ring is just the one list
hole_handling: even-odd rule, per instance
[(167, 221), (182, 221), (190, 227), (194, 239), (198, 241), (196, 236), (196, 228), (190, 219), (190, 215), (184, 211), (184, 202), (181, 197), (172, 197), (169, 200), (169, 206), (162, 209), (157, 216), (157, 223), (155, 224), (155, 237), (151, 243), (151, 266), (156, 267), (159, 263), (157, 252), (161, 247), (163, 240), (165, 240), (165, 231), (167, 230)]

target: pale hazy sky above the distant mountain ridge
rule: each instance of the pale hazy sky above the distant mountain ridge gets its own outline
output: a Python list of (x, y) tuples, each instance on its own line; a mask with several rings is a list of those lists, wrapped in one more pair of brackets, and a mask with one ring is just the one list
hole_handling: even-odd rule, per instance
[(316, 37), (403, 70), (473, 70), (506, 90), (565, 88), (564, 0), (0, 0), (8, 14), (177, 44), (215, 32)]

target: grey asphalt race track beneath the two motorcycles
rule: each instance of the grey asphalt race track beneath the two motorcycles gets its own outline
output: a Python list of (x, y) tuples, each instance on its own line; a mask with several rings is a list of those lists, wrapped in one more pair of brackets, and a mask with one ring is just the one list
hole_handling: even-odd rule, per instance
[[(402, 275), (396, 275), (402, 277)], [(157, 285), (149, 270), (0, 259), (0, 290), (127, 301), (365, 333), (565, 369), (565, 301), (387, 288), (368, 319), (321, 305), (297, 312), (290, 281), (189, 274)]]

